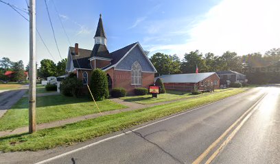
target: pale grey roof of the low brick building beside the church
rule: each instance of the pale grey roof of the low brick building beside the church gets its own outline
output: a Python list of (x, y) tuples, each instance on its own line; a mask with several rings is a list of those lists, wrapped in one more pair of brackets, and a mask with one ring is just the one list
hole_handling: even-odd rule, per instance
[(210, 77), (215, 72), (205, 72), (205, 73), (191, 73), (191, 74), (167, 74), (162, 75), (161, 78), (163, 83), (198, 83), (207, 77)]

